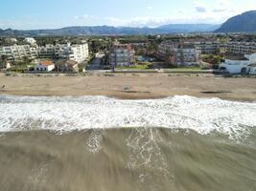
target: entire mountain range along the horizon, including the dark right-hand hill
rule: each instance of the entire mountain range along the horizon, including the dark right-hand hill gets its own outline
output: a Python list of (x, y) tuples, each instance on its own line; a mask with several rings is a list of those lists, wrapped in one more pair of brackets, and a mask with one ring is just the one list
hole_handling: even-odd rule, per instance
[(56, 30), (1, 30), (0, 36), (40, 35), (132, 35), (167, 34), (188, 32), (256, 32), (256, 11), (246, 11), (229, 18), (222, 25), (211, 24), (170, 24), (158, 28), (132, 28), (111, 26), (75, 26)]

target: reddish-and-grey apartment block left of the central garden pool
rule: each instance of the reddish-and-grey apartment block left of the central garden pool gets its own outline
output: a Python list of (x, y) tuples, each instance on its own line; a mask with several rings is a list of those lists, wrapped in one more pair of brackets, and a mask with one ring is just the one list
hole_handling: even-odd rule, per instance
[(129, 44), (114, 44), (110, 49), (109, 62), (112, 66), (130, 66), (134, 64), (135, 51)]

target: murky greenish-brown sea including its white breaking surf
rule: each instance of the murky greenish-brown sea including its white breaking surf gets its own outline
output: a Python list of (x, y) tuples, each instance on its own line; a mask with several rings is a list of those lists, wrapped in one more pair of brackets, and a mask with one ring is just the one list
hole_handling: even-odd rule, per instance
[(1, 191), (255, 191), (256, 102), (0, 96)]

